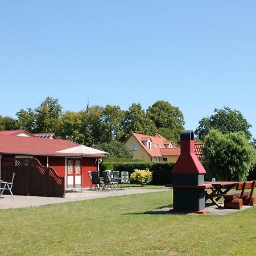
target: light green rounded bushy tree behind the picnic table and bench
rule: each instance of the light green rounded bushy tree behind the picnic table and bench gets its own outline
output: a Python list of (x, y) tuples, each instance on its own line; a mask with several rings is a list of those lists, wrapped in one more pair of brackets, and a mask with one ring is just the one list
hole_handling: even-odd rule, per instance
[(244, 181), (254, 165), (255, 150), (245, 134), (210, 130), (205, 136), (204, 166), (208, 177)]

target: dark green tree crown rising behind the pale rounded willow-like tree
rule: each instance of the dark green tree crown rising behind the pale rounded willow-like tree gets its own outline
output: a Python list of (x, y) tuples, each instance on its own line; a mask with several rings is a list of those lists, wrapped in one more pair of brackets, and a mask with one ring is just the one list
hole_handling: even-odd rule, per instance
[(199, 121), (199, 127), (195, 130), (199, 139), (204, 139), (205, 135), (212, 129), (221, 131), (223, 134), (243, 131), (247, 139), (251, 138), (249, 131), (251, 125), (238, 110), (231, 110), (225, 106), (223, 109), (215, 109), (214, 113), (210, 117), (204, 117)]

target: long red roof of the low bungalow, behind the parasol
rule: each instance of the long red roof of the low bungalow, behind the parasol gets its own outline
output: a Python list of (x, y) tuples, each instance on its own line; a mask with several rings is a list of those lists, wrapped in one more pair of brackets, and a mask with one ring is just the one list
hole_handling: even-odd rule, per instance
[[(76, 147), (78, 143), (64, 139), (41, 139), (37, 137), (20, 137), (0, 134), (0, 154), (14, 155), (52, 155), (52, 156), (81, 156), (81, 154), (63, 154), (56, 151)], [(82, 156), (105, 158), (105, 155)]]

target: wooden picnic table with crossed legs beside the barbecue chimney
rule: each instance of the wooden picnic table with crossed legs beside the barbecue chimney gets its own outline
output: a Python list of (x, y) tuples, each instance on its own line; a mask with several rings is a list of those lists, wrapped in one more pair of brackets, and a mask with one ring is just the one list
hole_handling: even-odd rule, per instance
[(212, 184), (212, 188), (210, 188), (210, 193), (208, 193), (208, 191), (205, 190), (205, 201), (210, 199), (213, 204), (217, 205), (218, 208), (221, 208), (221, 205), (218, 203), (218, 200), (220, 200), (221, 197), (226, 195), (230, 191), (230, 189), (236, 187), (238, 181), (215, 181), (205, 183)]

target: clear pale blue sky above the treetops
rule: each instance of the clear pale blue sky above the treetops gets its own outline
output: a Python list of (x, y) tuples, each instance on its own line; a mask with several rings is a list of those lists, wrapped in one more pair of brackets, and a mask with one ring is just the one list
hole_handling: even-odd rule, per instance
[(214, 108), (239, 110), (256, 137), (256, 2), (0, 2), (0, 115), (47, 96), (63, 110), (158, 100), (195, 130)]

